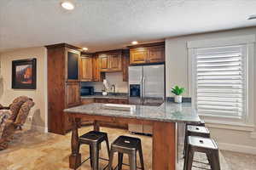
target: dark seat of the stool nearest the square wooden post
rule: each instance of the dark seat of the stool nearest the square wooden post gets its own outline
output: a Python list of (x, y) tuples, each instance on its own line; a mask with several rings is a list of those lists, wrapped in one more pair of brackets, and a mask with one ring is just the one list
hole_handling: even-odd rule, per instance
[(141, 143), (141, 139), (131, 138), (129, 136), (119, 136), (118, 139), (111, 144), (114, 148), (122, 150), (138, 150), (138, 146)]

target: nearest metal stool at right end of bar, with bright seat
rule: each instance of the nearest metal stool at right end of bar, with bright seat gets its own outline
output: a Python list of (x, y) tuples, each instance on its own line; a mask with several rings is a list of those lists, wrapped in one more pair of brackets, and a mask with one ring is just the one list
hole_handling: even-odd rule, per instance
[(191, 170), (195, 152), (205, 153), (212, 170), (220, 170), (218, 145), (213, 139), (196, 136), (188, 137), (188, 150), (184, 159), (184, 170)]

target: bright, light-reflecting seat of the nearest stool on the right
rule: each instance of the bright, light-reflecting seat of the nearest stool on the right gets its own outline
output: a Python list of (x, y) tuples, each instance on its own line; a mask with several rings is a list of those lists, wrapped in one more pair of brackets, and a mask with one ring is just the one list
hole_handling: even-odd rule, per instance
[(213, 139), (207, 139), (202, 137), (189, 136), (188, 144), (201, 148), (208, 148), (212, 150), (218, 150), (218, 146)]

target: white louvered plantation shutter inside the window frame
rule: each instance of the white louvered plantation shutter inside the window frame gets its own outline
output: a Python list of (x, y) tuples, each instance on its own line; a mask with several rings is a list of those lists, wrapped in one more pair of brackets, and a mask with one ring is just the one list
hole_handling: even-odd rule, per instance
[(196, 48), (195, 105), (203, 116), (241, 118), (247, 105), (247, 48)]

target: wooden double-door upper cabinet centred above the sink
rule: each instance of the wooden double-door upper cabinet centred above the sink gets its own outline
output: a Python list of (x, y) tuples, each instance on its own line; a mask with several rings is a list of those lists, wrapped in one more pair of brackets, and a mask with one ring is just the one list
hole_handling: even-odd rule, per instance
[(99, 70), (102, 72), (122, 71), (121, 51), (101, 52), (98, 55)]

